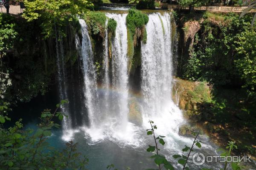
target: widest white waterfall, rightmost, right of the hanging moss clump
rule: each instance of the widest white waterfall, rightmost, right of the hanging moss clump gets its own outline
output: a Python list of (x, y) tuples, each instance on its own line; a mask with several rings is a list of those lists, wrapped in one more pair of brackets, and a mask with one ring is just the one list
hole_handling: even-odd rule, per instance
[[(178, 126), (183, 122), (180, 109), (172, 101), (172, 26), (170, 14), (149, 14), (147, 42), (141, 46), (143, 124), (148, 119), (167, 136), (168, 145), (179, 145), (183, 139)], [(173, 147), (172, 147), (173, 148)], [(177, 148), (177, 146), (175, 147)]]

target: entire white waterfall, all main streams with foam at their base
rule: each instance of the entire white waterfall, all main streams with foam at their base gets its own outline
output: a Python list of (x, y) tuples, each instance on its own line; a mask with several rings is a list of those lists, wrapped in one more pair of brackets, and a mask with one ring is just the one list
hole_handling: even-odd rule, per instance
[[(128, 121), (129, 101), (134, 96), (128, 93), (127, 14), (107, 13), (106, 16), (116, 20), (117, 26), (111, 40), (108, 40), (108, 32), (105, 30), (101, 86), (97, 85), (87, 25), (84, 20), (79, 20), (82, 33), (79, 48), (83, 61), (84, 103), (87, 108), (82, 112), (87, 112), (90, 122), (90, 126), (84, 126), (82, 130), (93, 142), (108, 139), (122, 145), (139, 147), (145, 142), (145, 129), (148, 129), (148, 119), (151, 119), (159, 126), (158, 131), (167, 136), (167, 147), (178, 147), (180, 141), (183, 141), (180, 143), (182, 146), (184, 142), (190, 142), (190, 139), (178, 135), (178, 126), (184, 121), (180, 109), (172, 101), (173, 44), (170, 14), (149, 14), (145, 27), (147, 43), (142, 42), (141, 46), (143, 97), (138, 102), (143, 107), (142, 125)], [(108, 53), (109, 42), (111, 56)]]

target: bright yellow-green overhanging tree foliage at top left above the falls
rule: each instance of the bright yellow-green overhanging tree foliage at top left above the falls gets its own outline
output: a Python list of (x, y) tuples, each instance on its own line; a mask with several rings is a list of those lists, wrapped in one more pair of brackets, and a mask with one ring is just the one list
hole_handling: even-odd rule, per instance
[(81, 17), (93, 5), (87, 0), (24, 0), (24, 4), (26, 10), (22, 16), (29, 22), (41, 20), (45, 38), (55, 36), (56, 27), (65, 35), (63, 26)]

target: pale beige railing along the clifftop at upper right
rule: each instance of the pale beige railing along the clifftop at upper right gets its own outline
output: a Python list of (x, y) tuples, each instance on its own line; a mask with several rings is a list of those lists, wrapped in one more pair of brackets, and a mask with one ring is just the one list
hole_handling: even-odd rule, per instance
[[(233, 6), (200, 6), (194, 7), (194, 10), (198, 11), (211, 11), (211, 12), (243, 12), (245, 7), (233, 7)], [(168, 5), (168, 9), (186, 9), (188, 6)], [(251, 9), (249, 12), (256, 12), (256, 9)]]

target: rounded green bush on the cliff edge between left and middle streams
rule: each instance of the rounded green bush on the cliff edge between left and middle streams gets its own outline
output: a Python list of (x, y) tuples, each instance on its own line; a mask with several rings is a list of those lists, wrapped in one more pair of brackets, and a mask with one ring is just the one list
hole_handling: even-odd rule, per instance
[(93, 35), (104, 37), (106, 15), (103, 12), (88, 12), (84, 17), (90, 32)]

